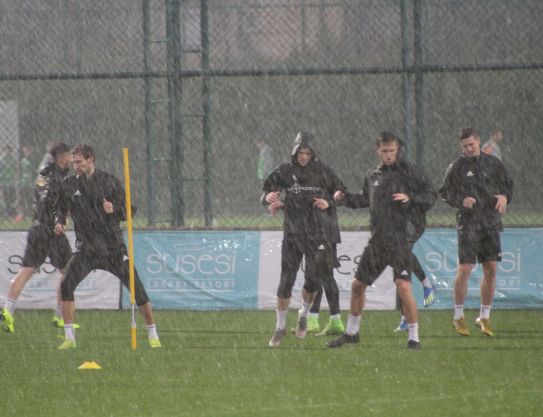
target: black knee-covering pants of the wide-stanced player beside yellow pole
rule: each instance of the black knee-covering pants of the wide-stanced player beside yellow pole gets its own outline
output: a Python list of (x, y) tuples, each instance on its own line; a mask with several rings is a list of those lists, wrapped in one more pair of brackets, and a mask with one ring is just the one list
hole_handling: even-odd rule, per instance
[[(106, 255), (89, 255), (76, 252), (68, 262), (66, 274), (60, 284), (62, 301), (74, 301), (74, 292), (77, 286), (85, 277), (95, 269), (101, 269), (115, 275), (121, 280), (126, 288), (130, 287), (130, 273), (128, 256), (126, 253), (111, 253)], [(138, 271), (134, 268), (134, 289), (136, 293), (136, 304), (141, 306), (149, 302), (149, 297)]]

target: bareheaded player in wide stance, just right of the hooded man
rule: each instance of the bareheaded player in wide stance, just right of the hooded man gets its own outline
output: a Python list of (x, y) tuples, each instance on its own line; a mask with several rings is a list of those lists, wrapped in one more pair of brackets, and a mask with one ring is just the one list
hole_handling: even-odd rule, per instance
[(407, 346), (418, 349), (417, 306), (411, 288), (412, 248), (424, 230), (425, 213), (437, 194), (422, 170), (398, 159), (400, 142), (394, 134), (381, 133), (375, 148), (381, 163), (368, 172), (360, 193), (344, 195), (349, 208), (369, 207), (371, 237), (353, 280), (346, 332), (327, 345), (340, 347), (359, 341), (366, 288), (390, 265), (409, 324)]

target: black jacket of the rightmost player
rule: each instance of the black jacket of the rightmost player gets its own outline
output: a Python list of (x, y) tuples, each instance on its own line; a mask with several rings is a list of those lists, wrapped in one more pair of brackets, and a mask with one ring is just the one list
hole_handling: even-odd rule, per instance
[[(485, 153), (460, 156), (447, 169), (439, 190), (439, 195), (456, 209), (458, 228), (502, 230), (501, 216), (495, 208), (495, 195), (500, 194), (511, 202), (513, 180), (498, 158)], [(464, 207), (466, 197), (475, 198), (475, 206)]]

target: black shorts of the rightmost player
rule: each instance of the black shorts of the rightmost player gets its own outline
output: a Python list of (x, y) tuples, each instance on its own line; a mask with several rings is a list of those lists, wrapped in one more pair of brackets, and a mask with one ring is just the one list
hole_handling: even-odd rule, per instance
[(458, 230), (458, 263), (475, 265), (502, 260), (500, 232), (491, 230)]

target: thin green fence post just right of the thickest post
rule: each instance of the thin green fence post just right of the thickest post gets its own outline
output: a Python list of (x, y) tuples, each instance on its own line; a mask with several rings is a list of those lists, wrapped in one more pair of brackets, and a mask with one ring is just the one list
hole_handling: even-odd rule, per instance
[(204, 184), (205, 201), (204, 216), (206, 227), (213, 226), (213, 164), (212, 148), (213, 138), (211, 136), (211, 91), (210, 80), (207, 74), (209, 70), (209, 21), (208, 21), (207, 0), (200, 0), (200, 32), (202, 40), (202, 131), (204, 141)]

